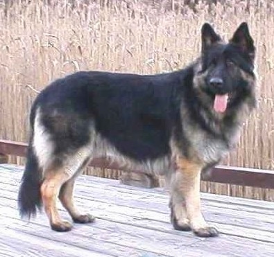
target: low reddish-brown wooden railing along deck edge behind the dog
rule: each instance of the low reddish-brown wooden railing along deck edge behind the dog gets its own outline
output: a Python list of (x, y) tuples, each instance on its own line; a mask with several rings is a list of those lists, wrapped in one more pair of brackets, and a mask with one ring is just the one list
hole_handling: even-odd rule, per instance
[[(26, 149), (26, 143), (0, 140), (0, 161), (2, 163), (5, 162), (8, 155), (26, 157)], [(119, 163), (110, 161), (107, 158), (93, 159), (89, 163), (89, 166), (94, 168), (108, 168), (110, 170), (122, 170), (124, 173), (121, 181), (124, 184), (135, 184), (147, 187), (158, 186), (157, 178), (146, 175), (138, 170), (127, 170), (126, 168), (121, 167)], [(131, 174), (133, 174), (133, 176)], [(137, 177), (141, 176), (141, 179), (134, 179), (133, 177), (136, 177), (136, 175)], [(273, 170), (216, 166), (212, 172), (203, 175), (202, 180), (239, 186), (255, 186), (259, 188), (274, 189)], [(135, 183), (134, 181), (137, 182)]]

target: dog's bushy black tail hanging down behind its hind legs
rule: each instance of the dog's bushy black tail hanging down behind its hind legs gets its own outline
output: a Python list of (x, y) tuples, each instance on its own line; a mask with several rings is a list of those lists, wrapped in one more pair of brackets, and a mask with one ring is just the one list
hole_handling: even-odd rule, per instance
[(38, 166), (38, 160), (31, 140), (28, 145), (26, 167), (18, 194), (18, 207), (21, 218), (27, 217), (30, 219), (31, 217), (35, 217), (37, 209), (41, 209), (41, 184), (42, 171)]

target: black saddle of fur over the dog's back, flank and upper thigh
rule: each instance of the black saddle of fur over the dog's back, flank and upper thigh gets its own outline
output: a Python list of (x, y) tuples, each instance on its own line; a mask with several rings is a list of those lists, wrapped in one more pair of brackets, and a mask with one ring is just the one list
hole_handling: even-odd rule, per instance
[(88, 143), (92, 126), (136, 161), (168, 155), (189, 74), (192, 67), (154, 76), (80, 71), (55, 80), (35, 103), (55, 156)]

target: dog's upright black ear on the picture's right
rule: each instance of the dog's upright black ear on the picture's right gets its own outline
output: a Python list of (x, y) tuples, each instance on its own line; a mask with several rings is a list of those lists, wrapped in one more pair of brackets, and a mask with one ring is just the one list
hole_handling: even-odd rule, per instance
[(247, 53), (251, 59), (255, 57), (255, 46), (250, 36), (248, 24), (243, 22), (235, 31), (230, 43), (239, 47), (243, 53)]

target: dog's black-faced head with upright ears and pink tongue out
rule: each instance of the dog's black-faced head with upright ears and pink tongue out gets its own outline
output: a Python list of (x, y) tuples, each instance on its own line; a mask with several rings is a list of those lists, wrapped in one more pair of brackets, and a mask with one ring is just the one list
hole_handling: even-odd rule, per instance
[(202, 57), (194, 76), (194, 89), (204, 105), (228, 112), (253, 94), (255, 46), (244, 22), (228, 43), (209, 24), (202, 27)]

